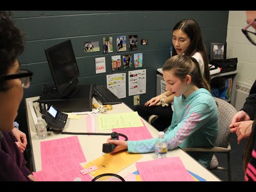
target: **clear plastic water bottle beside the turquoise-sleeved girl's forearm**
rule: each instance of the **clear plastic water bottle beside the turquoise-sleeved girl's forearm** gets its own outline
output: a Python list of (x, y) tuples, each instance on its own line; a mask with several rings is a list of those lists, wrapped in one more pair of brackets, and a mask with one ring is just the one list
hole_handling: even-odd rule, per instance
[(164, 132), (160, 131), (158, 133), (158, 138), (155, 145), (155, 155), (156, 158), (166, 158), (167, 155), (167, 142), (164, 139)]

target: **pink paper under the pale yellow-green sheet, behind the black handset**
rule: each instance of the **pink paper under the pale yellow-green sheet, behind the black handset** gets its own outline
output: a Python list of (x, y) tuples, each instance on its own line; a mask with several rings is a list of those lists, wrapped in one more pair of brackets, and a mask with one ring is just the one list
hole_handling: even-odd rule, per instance
[[(142, 121), (142, 119), (141, 119)], [(122, 133), (128, 137), (129, 141), (138, 141), (144, 139), (151, 139), (153, 138), (152, 135), (149, 133), (147, 126), (142, 121), (143, 126), (141, 127), (128, 127), (122, 129), (112, 129), (113, 132)], [(124, 140), (123, 137), (119, 137), (120, 140)]]

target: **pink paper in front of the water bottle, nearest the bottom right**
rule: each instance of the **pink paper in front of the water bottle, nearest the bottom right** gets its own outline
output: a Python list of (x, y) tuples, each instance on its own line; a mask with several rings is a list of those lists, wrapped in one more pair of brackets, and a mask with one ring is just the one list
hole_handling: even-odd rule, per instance
[(180, 157), (137, 162), (142, 181), (194, 181)]

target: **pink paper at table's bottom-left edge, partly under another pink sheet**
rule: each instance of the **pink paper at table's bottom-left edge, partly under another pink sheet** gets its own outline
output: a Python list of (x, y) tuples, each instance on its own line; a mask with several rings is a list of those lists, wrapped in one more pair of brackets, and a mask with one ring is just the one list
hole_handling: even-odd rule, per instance
[(45, 170), (33, 172), (37, 181), (74, 181), (81, 178), (81, 181), (91, 181), (89, 174), (83, 175), (79, 170), (83, 169), (78, 163), (66, 162), (47, 167)]

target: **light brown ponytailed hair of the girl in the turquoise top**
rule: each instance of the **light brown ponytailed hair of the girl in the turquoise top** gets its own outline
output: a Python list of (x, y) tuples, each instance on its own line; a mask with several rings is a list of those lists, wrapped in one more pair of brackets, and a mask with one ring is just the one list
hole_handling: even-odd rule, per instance
[(199, 63), (193, 57), (187, 55), (175, 55), (165, 61), (163, 71), (172, 70), (173, 74), (180, 79), (185, 79), (187, 75), (191, 77), (191, 83), (198, 88), (204, 88), (210, 92), (211, 88), (206, 79), (202, 76)]

